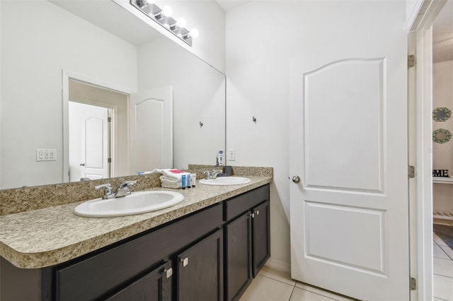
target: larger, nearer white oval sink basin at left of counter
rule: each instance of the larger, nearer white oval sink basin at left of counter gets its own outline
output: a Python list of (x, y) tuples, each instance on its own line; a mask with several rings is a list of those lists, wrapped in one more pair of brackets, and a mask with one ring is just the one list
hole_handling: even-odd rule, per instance
[(183, 200), (184, 196), (174, 191), (138, 191), (117, 199), (86, 201), (74, 209), (74, 214), (88, 218), (131, 216), (168, 208)]

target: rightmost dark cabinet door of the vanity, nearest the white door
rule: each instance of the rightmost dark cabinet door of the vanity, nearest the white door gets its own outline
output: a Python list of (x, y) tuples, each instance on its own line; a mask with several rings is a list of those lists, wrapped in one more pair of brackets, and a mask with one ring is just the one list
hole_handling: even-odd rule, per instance
[(253, 208), (252, 216), (252, 271), (254, 278), (270, 256), (269, 201)]

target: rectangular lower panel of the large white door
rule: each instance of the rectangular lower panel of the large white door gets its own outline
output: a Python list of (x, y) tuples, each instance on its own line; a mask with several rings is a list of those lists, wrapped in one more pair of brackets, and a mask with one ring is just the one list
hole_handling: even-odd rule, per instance
[[(307, 258), (384, 273), (384, 212), (304, 202)], [(342, 220), (342, 223), (337, 221)], [(323, 237), (322, 240), (319, 237)], [(362, 247), (354, 247), (360, 245)]]

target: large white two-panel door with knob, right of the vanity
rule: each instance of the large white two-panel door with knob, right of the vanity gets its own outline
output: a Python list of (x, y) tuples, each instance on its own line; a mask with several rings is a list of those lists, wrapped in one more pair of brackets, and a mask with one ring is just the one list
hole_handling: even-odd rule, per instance
[(292, 59), (292, 278), (409, 300), (406, 33), (391, 10), (360, 7), (332, 20), (348, 28), (353, 16), (382, 15), (348, 31), (353, 44), (314, 37), (323, 49)]

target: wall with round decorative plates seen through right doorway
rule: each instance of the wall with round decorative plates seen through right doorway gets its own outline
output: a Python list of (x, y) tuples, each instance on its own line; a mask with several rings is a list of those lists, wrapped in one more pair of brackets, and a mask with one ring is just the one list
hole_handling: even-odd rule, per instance
[[(453, 61), (432, 64), (432, 109), (447, 107), (453, 113)], [(453, 114), (452, 114), (453, 115)], [(453, 116), (445, 122), (432, 122), (432, 130), (447, 129), (453, 134)], [(432, 143), (432, 169), (449, 170), (453, 177), (453, 138), (446, 143)], [(434, 213), (453, 216), (453, 184), (434, 184), (432, 208)]]

